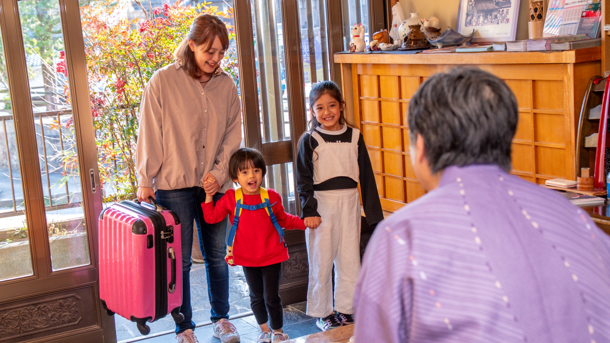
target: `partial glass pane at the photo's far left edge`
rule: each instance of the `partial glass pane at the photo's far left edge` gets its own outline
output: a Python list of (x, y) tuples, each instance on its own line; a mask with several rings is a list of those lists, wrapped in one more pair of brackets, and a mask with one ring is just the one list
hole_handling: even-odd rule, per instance
[(9, 81), (0, 37), (0, 281), (32, 275)]

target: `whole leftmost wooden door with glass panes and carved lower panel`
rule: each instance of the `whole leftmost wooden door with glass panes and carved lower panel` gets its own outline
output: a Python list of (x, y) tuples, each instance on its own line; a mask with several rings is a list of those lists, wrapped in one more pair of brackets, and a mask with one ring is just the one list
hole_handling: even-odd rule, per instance
[(0, 0), (0, 341), (115, 342), (79, 7)]

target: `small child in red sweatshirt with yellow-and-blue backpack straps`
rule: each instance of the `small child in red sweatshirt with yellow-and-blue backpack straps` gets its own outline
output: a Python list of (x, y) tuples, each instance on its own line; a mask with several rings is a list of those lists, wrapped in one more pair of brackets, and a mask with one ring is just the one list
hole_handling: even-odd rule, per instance
[(282, 198), (276, 191), (260, 187), (265, 173), (265, 160), (259, 151), (237, 150), (229, 159), (229, 177), (241, 187), (227, 190), (215, 205), (212, 195), (207, 194), (202, 207), (207, 223), (220, 222), (226, 215), (233, 223), (225, 260), (230, 265), (243, 266), (250, 288), (250, 306), (260, 325), (258, 342), (269, 343), (288, 339), (282, 331), (279, 297), (282, 262), (288, 259), (282, 228), (304, 230), (305, 225), (301, 218), (284, 212)]

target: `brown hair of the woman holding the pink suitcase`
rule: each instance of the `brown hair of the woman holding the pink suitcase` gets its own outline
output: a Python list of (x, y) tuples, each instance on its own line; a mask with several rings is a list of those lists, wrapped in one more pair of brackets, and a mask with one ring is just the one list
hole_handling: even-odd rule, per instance
[(201, 70), (195, 62), (195, 53), (188, 46), (188, 40), (193, 40), (195, 46), (204, 45), (209, 50), (216, 36), (220, 38), (223, 48), (225, 50), (228, 49), (229, 34), (226, 24), (218, 16), (203, 13), (193, 20), (187, 37), (182, 40), (182, 43), (174, 51), (174, 57), (181, 62), (182, 68), (187, 70), (192, 78), (201, 78)]

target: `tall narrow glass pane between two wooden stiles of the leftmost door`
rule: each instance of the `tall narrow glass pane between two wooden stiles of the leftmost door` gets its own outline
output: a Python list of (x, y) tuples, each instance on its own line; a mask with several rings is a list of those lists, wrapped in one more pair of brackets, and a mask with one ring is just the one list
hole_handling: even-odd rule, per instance
[(59, 1), (19, 1), (53, 270), (89, 264)]

